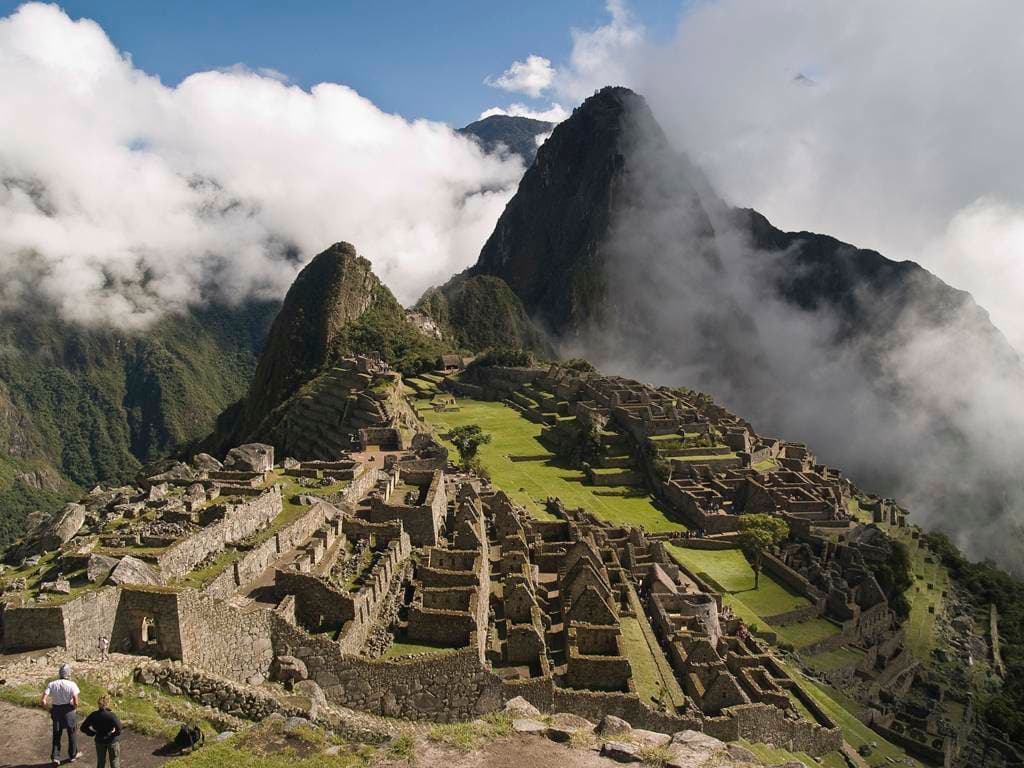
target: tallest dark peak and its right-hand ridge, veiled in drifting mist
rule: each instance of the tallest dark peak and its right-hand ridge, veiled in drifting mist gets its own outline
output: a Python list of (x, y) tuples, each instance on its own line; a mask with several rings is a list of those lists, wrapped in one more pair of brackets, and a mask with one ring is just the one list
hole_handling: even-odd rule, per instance
[(562, 354), (709, 391), (1016, 562), (1024, 371), (987, 313), (913, 262), (730, 207), (633, 92), (555, 128), (466, 274), (504, 281)]

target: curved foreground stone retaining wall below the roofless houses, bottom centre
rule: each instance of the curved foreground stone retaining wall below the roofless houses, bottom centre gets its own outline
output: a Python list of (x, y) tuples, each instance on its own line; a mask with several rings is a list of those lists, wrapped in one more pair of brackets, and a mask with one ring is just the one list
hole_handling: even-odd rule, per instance
[(274, 652), (301, 658), (328, 699), (387, 717), (453, 722), (498, 710), (501, 681), (475, 648), (396, 660), (343, 654), (337, 643), (310, 637), (275, 617)]

